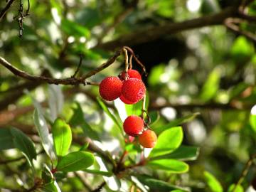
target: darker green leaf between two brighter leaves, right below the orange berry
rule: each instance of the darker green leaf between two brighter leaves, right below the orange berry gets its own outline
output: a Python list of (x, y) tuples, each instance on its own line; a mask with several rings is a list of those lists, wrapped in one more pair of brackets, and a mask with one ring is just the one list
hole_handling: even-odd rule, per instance
[(196, 146), (184, 146), (181, 145), (173, 151), (171, 154), (166, 154), (162, 156), (156, 156), (152, 159), (177, 159), (181, 161), (191, 161), (196, 160), (199, 154), (199, 148)]

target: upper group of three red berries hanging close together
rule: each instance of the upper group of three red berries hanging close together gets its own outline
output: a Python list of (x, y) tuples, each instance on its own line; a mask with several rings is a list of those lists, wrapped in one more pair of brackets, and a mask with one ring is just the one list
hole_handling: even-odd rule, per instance
[(127, 78), (122, 72), (119, 78), (107, 77), (100, 82), (100, 96), (107, 101), (119, 97), (125, 104), (132, 105), (142, 100), (145, 92), (146, 87), (137, 70), (128, 70)]

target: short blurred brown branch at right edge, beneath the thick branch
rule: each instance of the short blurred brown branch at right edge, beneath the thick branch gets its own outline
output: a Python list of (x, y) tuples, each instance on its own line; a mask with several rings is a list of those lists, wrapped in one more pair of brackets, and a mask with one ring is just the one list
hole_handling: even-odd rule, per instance
[(250, 39), (251, 41), (256, 43), (256, 36), (253, 33), (250, 33), (248, 31), (241, 31), (239, 26), (237, 26), (235, 23), (240, 23), (239, 18), (227, 18), (225, 20), (225, 26), (229, 28), (231, 31), (234, 31), (235, 33), (238, 33), (239, 35), (245, 36), (246, 38)]

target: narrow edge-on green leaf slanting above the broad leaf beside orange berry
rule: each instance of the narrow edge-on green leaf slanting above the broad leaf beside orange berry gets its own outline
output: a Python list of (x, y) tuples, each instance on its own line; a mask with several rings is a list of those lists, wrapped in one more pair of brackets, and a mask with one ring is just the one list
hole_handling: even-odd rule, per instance
[(178, 125), (184, 124), (186, 122), (191, 122), (193, 119), (195, 119), (200, 113), (199, 112), (195, 112), (193, 114), (188, 114), (185, 117), (181, 117), (179, 119), (174, 119), (173, 121), (169, 122), (168, 124), (164, 124), (161, 127), (156, 127), (154, 129), (154, 132), (156, 132), (157, 134), (160, 134), (162, 131), (164, 131), (165, 129), (169, 129), (171, 127), (176, 127)]

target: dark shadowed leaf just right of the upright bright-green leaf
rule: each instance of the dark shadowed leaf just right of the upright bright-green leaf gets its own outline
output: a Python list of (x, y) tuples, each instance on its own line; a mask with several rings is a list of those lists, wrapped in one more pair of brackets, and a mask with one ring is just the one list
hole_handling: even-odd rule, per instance
[(70, 119), (70, 124), (73, 127), (81, 126), (82, 131), (84, 132), (86, 137), (90, 137), (91, 139), (95, 139), (100, 141), (100, 138), (97, 135), (97, 132), (90, 127), (90, 124), (87, 124), (84, 118), (84, 114), (82, 112), (82, 107), (78, 102), (75, 102), (75, 107), (73, 107), (73, 116)]

